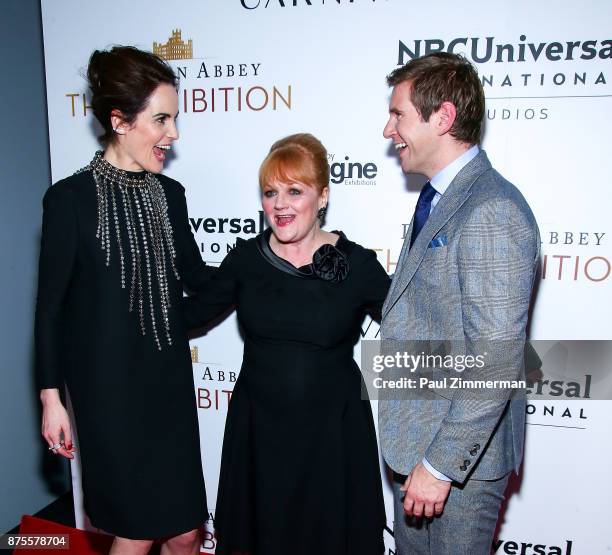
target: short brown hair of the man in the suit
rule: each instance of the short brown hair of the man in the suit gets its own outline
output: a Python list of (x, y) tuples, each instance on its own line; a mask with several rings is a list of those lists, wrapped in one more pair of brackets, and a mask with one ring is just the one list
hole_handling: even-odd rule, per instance
[(424, 121), (443, 102), (451, 102), (457, 117), (450, 134), (470, 145), (480, 142), (485, 111), (484, 91), (476, 68), (463, 56), (435, 52), (410, 60), (387, 76), (390, 87), (410, 82), (410, 101)]

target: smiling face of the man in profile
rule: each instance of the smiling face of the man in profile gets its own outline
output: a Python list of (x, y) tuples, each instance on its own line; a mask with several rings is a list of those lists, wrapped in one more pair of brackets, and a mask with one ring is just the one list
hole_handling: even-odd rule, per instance
[(402, 81), (393, 87), (389, 121), (383, 135), (393, 141), (404, 172), (420, 173), (429, 178), (437, 173), (439, 134), (435, 123), (435, 113), (429, 121), (423, 121), (412, 104), (409, 81)]

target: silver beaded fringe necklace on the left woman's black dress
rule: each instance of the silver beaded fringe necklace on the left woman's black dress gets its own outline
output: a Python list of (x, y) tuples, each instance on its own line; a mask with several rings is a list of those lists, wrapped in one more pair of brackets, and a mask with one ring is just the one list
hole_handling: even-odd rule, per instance
[[(98, 200), (98, 227), (96, 237), (106, 255), (106, 266), (110, 266), (112, 248), (111, 229), (114, 228), (116, 253), (121, 269), (121, 288), (126, 288), (126, 255), (123, 252), (122, 237), (129, 245), (130, 303), (129, 311), (138, 304), (140, 331), (147, 334), (145, 306), (151, 314), (151, 332), (157, 348), (161, 351), (156, 312), (163, 319), (164, 335), (172, 345), (168, 309), (171, 307), (168, 287), (169, 271), (180, 279), (175, 265), (176, 250), (168, 203), (162, 184), (149, 172), (133, 176), (112, 166), (103, 158), (103, 152), (96, 152), (90, 164), (76, 173), (91, 170), (96, 183)], [(119, 212), (125, 217), (121, 219)], [(169, 270), (171, 268), (171, 270)], [(154, 282), (156, 282), (154, 284)], [(153, 289), (157, 288), (159, 308), (154, 303)]]

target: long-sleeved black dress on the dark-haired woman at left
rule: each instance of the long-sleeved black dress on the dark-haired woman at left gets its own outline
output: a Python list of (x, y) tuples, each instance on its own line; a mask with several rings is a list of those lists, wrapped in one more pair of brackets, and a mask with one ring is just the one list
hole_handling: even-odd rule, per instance
[[(125, 234), (121, 243), (126, 288), (121, 287), (116, 251), (106, 265), (96, 237), (92, 172), (58, 182), (43, 201), (36, 307), (38, 385), (68, 385), (85, 509), (92, 524), (132, 539), (176, 535), (207, 519), (191, 357), (180, 307), (183, 284), (197, 291), (211, 270), (202, 262), (188, 227), (183, 187), (162, 175), (158, 179), (167, 199), (181, 278), (172, 273), (168, 278), (171, 345), (160, 323), (159, 292), (152, 287), (161, 350), (151, 333), (148, 295), (146, 335), (141, 333), (138, 308), (128, 310), (130, 245)], [(126, 216), (117, 212), (121, 226)], [(110, 239), (116, 246), (114, 225), (111, 222)]]

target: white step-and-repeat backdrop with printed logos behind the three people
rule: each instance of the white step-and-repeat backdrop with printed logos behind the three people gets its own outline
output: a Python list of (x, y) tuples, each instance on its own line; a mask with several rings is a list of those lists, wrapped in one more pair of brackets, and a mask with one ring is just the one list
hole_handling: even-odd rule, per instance
[[(181, 137), (164, 172), (186, 187), (193, 234), (213, 265), (237, 237), (266, 225), (257, 171), (270, 145), (308, 131), (329, 151), (327, 228), (375, 249), (393, 273), (424, 179), (402, 175), (382, 136), (385, 76), (437, 50), (473, 61), (487, 97), (483, 147), (540, 226), (530, 335), (546, 340), (536, 349), (555, 380), (553, 391), (541, 380), (528, 395), (525, 462), (492, 551), (612, 550), (612, 406), (589, 400), (591, 380), (570, 381), (555, 354), (560, 341), (612, 339), (611, 3), (54, 0), (42, 2), (42, 13), (53, 180), (99, 148), (83, 77), (90, 53), (129, 44), (166, 57), (180, 76)], [(377, 334), (364, 321), (363, 337)], [(223, 427), (242, 356), (235, 317), (191, 345), (211, 507), (202, 551), (214, 553)], [(73, 470), (77, 491), (78, 461)], [(393, 554), (390, 492), (385, 541)]]

